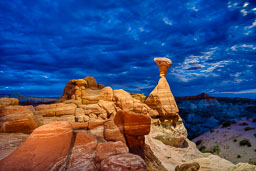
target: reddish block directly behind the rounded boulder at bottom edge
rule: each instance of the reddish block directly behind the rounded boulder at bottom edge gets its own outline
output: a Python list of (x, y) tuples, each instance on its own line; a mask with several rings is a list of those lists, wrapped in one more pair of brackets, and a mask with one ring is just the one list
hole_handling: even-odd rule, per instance
[(128, 153), (128, 147), (123, 142), (102, 142), (96, 148), (96, 161), (100, 162), (109, 156), (123, 153)]

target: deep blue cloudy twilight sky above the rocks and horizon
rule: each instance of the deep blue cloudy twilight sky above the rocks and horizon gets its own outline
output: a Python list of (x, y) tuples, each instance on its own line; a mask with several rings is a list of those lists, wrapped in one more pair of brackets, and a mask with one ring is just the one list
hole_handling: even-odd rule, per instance
[(174, 96), (256, 98), (255, 0), (0, 1), (0, 94), (60, 96), (90, 75), (148, 95), (156, 56)]

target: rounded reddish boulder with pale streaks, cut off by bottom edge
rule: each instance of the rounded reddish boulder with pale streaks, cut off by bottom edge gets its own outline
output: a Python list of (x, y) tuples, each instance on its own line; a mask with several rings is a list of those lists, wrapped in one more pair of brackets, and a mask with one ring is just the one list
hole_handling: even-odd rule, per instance
[(134, 154), (125, 153), (110, 156), (101, 162), (101, 171), (133, 170), (146, 171), (144, 160)]

